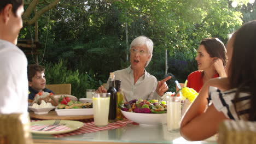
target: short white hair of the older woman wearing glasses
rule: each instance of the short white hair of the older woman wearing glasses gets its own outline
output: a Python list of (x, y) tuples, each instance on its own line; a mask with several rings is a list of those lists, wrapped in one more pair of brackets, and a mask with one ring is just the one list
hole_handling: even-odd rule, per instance
[(130, 50), (133, 46), (143, 46), (143, 45), (145, 45), (147, 47), (148, 53), (150, 55), (149, 60), (147, 61), (146, 65), (145, 65), (145, 68), (146, 68), (153, 56), (152, 55), (153, 47), (154, 47), (153, 41), (151, 39), (147, 38), (146, 36), (141, 35), (132, 40), (131, 45), (130, 45)]

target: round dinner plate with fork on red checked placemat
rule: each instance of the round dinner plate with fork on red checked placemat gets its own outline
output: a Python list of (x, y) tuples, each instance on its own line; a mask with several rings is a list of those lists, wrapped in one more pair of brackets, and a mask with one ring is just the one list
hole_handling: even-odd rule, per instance
[[(44, 121), (37, 121), (37, 122), (31, 122), (31, 127), (36, 125), (48, 125), (53, 124), (55, 120), (44, 120)], [(67, 133), (70, 131), (77, 130), (81, 127), (83, 127), (84, 123), (78, 122), (78, 121), (68, 121), (68, 120), (61, 120), (60, 124), (65, 124), (65, 127), (68, 127), (68, 130), (59, 130), (59, 131), (36, 131), (31, 130), (31, 133), (33, 134), (43, 134), (43, 135), (53, 135), (53, 134), (62, 134)]]

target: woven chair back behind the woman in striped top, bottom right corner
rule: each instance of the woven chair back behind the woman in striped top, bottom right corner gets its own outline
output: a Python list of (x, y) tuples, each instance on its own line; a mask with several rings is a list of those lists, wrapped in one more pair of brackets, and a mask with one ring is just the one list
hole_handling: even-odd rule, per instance
[(256, 122), (225, 120), (219, 126), (218, 143), (256, 143)]

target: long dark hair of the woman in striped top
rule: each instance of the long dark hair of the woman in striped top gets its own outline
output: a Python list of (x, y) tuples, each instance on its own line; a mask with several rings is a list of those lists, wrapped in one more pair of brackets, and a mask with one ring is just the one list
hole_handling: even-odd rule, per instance
[(256, 20), (246, 22), (232, 37), (234, 43), (229, 67), (230, 88), (237, 88), (235, 102), (238, 101), (240, 92), (252, 95), (248, 120), (256, 121)]

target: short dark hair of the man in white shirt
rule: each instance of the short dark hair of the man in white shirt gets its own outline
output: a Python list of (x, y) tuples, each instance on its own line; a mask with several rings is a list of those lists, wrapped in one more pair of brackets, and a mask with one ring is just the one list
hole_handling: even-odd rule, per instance
[(13, 8), (11, 9), (13, 11), (13, 14), (16, 16), (17, 9), (23, 4), (23, 0), (1, 0), (0, 1), (0, 13), (2, 13), (2, 10), (7, 4), (13, 5)]

